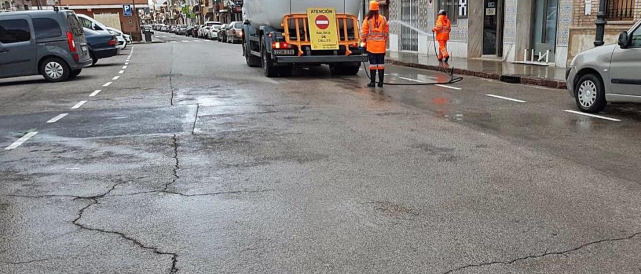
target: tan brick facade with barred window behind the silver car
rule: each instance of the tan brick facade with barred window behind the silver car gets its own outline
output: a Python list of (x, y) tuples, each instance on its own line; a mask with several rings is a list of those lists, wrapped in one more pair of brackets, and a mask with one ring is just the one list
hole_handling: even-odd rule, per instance
[[(574, 0), (568, 58), (594, 47), (595, 22), (599, 10), (598, 0)], [(604, 41), (615, 44), (621, 31), (627, 31), (641, 20), (641, 0), (606, 0)]]

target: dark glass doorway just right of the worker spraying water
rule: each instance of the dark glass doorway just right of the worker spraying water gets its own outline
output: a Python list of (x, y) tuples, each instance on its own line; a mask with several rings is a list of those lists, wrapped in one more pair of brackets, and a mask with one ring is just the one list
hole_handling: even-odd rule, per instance
[(503, 1), (484, 0), (483, 55), (503, 56)]

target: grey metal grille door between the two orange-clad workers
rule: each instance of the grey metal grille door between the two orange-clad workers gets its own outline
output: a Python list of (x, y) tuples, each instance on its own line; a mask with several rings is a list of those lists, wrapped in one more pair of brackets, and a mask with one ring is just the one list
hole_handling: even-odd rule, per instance
[(401, 51), (419, 51), (418, 0), (401, 0), (401, 22)]

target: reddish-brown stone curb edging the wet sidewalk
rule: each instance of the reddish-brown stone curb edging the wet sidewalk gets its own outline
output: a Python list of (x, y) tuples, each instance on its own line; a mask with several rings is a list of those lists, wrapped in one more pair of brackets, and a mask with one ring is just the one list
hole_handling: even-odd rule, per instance
[[(388, 62), (392, 63), (393, 65), (401, 65), (403, 67), (413, 67), (413, 68), (422, 68), (426, 70), (442, 71), (441, 67), (438, 67), (435, 65), (407, 63), (404, 61), (398, 61), (398, 60), (392, 60), (392, 59), (388, 59)], [(539, 78), (539, 77), (521, 76), (521, 75), (497, 74), (493, 72), (480, 72), (480, 71), (467, 70), (462, 68), (454, 68), (454, 74), (494, 79), (494, 80), (499, 80), (501, 82), (510, 83), (510, 84), (547, 86), (548, 88), (558, 88), (558, 89), (565, 89), (567, 87), (567, 85), (565, 85), (565, 81), (558, 81), (558, 80)]]

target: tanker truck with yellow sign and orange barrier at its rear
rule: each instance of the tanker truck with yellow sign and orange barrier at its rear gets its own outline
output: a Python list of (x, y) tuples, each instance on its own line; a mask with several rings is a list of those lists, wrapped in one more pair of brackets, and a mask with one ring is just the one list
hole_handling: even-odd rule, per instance
[(265, 76), (290, 76), (294, 66), (329, 65), (332, 74), (358, 74), (363, 0), (245, 0), (243, 55)]

